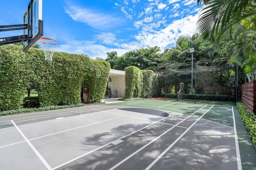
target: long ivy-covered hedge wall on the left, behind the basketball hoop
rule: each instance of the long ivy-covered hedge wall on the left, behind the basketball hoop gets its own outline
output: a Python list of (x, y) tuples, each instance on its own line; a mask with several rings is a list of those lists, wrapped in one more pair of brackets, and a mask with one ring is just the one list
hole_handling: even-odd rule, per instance
[(0, 46), (0, 110), (22, 107), (26, 89), (39, 92), (40, 106), (77, 104), (81, 87), (87, 85), (89, 101), (100, 102), (106, 90), (110, 64), (86, 55), (55, 52), (53, 61), (44, 52), (22, 46)]

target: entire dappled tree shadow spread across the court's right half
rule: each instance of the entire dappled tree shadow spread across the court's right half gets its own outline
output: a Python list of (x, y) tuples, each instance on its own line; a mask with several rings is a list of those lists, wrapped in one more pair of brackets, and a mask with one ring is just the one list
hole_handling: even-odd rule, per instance
[[(226, 124), (231, 120), (230, 117), (228, 117), (230, 116), (230, 113), (228, 113), (228, 115), (222, 114), (223, 109), (225, 108), (217, 107), (216, 109), (213, 109), (212, 112), (209, 112), (209, 114), (217, 117), (215, 119), (222, 119), (222, 117), (226, 118), (223, 121), (223, 124)], [(172, 119), (174, 122), (180, 121), (179, 116), (172, 117)], [(208, 119), (210, 118), (208, 117)], [(152, 119), (152, 121), (154, 120)], [(156, 125), (151, 125), (141, 131), (122, 138), (122, 141), (119, 141), (121, 143), (117, 145), (106, 144), (141, 129), (145, 124), (120, 125), (112, 128), (109, 132), (98, 133), (90, 138), (84, 138), (82, 144), (85, 148), (94, 146), (94, 148), (91, 147), (91, 149), (94, 150), (97, 148), (95, 146), (106, 146), (94, 150), (94, 152), (87, 154), (70, 164), (62, 166), (59, 169), (98, 170), (112, 168), (172, 127), (171, 125), (164, 124), (168, 121), (162, 122), (163, 123), (156, 123)], [(123, 162), (118, 166), (118, 169), (145, 169), (161, 153), (170, 147), (170, 145), (174, 144), (176, 139), (178, 139), (184, 131), (186, 131), (186, 128), (174, 127), (165, 135), (134, 154), (127, 161)], [(242, 136), (239, 138), (240, 141), (245, 141), (243, 145), (247, 149), (247, 145), (249, 145), (248, 141)], [(253, 167), (256, 167), (256, 161), (253, 163), (253, 160), (256, 158), (255, 154), (252, 152), (246, 153), (245, 150), (242, 152), (244, 152), (242, 153), (243, 156), (241, 155), (243, 168), (254, 169)], [(246, 161), (245, 158), (250, 158), (252, 160)], [(162, 158), (154, 164), (152, 169), (237, 169), (234, 129), (232, 127), (201, 119), (184, 136), (182, 136), (177, 143), (175, 143), (169, 150), (166, 150), (166, 153), (164, 153)]]

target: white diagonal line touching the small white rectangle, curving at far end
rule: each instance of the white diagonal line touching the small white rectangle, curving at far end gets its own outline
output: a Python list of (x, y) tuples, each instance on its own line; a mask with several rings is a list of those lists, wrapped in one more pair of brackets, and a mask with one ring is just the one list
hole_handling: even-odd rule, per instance
[[(167, 113), (167, 112), (166, 112), (166, 113)], [(169, 113), (168, 113), (168, 114), (169, 114)], [(170, 116), (170, 114), (169, 114), (169, 116)], [(168, 116), (168, 117), (169, 117), (169, 116)], [(163, 119), (166, 119), (166, 118), (168, 118), (168, 117), (164, 117)], [(161, 120), (159, 120), (159, 121), (162, 121), (163, 119), (161, 119)], [(154, 122), (154, 123), (157, 123), (157, 122)], [(147, 127), (150, 127), (150, 126), (153, 125), (154, 123), (152, 123), (152, 124), (150, 124), (150, 125), (147, 125), (147, 126), (145, 126), (145, 127), (142, 127), (141, 129), (139, 129), (139, 130), (137, 130), (137, 131), (134, 131), (134, 132), (132, 132), (132, 133), (129, 133), (128, 135), (125, 135), (125, 136), (123, 136), (123, 137), (120, 137), (119, 139), (116, 139), (116, 140), (121, 140), (121, 139), (123, 139), (123, 138), (125, 138), (125, 137), (128, 137), (128, 136), (130, 136), (130, 135), (132, 135), (132, 134), (134, 134), (134, 133), (136, 133), (136, 132), (138, 132), (138, 131), (141, 131), (142, 129), (145, 129), (145, 128), (147, 128)], [(116, 140), (115, 140), (115, 141), (116, 141)], [(113, 142), (113, 141), (112, 141), (112, 142)], [(103, 145), (103, 146), (101, 146), (101, 147), (98, 147), (98, 148), (96, 148), (96, 149), (94, 149), (94, 150), (91, 150), (90, 152), (87, 152), (87, 153), (85, 153), (85, 154), (82, 154), (81, 156), (78, 156), (78, 157), (76, 157), (76, 158), (74, 158), (74, 159), (72, 159), (72, 160), (69, 160), (68, 162), (65, 162), (65, 163), (63, 163), (63, 164), (61, 164), (61, 165), (59, 165), (59, 166), (56, 166), (56, 167), (52, 168), (52, 169), (55, 170), (55, 169), (60, 168), (60, 167), (62, 167), (62, 166), (64, 166), (64, 165), (66, 165), (66, 164), (69, 164), (70, 162), (73, 162), (73, 161), (75, 161), (75, 160), (77, 160), (77, 159), (79, 159), (79, 158), (82, 158), (82, 157), (84, 157), (84, 156), (86, 156), (86, 155), (88, 155), (88, 154), (90, 154), (90, 153), (92, 153), (92, 152), (95, 152), (96, 150), (102, 149), (102, 148), (104, 148), (104, 147), (106, 147), (106, 146), (112, 144), (112, 142), (107, 143), (106, 145)]]

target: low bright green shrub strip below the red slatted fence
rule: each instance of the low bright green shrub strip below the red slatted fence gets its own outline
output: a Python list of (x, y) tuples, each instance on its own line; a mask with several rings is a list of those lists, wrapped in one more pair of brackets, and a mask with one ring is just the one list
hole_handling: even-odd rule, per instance
[(237, 102), (236, 107), (240, 112), (242, 121), (244, 122), (247, 132), (252, 140), (254, 149), (256, 150), (256, 115), (254, 113), (250, 113), (241, 102)]

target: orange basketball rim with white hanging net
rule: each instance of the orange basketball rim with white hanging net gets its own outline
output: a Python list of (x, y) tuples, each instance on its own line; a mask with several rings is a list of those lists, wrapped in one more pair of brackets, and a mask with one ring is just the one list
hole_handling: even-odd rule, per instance
[(40, 37), (38, 41), (41, 43), (41, 47), (44, 50), (45, 60), (52, 61), (52, 56), (58, 45), (58, 41), (46, 37)]

